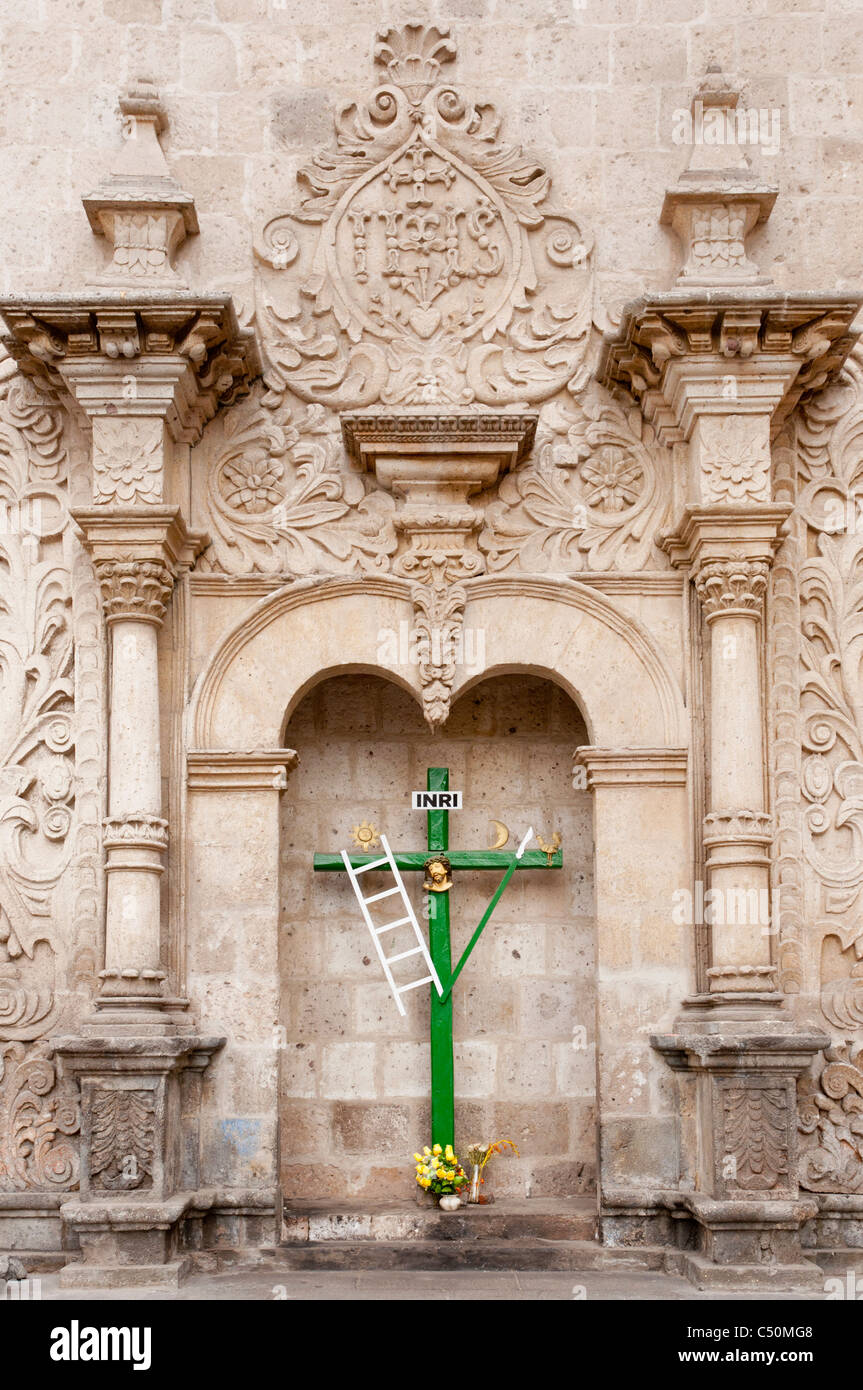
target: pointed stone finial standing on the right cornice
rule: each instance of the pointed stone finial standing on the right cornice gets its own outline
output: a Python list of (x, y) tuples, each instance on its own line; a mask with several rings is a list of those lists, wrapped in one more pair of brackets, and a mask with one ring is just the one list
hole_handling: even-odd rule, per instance
[[(746, 238), (766, 222), (777, 189), (749, 167), (743, 145), (766, 139), (769, 115), (741, 106), (741, 93), (712, 65), (698, 88), (691, 111), (681, 111), (674, 138), (691, 146), (689, 163), (668, 189), (660, 222), (680, 236), (685, 264), (678, 285), (769, 285), (746, 254)], [(680, 133), (678, 133), (680, 132)], [(774, 133), (769, 126), (770, 138)]]

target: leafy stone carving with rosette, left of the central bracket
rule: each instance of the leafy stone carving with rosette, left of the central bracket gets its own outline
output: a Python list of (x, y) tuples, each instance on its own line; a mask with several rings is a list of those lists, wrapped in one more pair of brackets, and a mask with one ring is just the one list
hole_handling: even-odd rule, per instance
[(208, 445), (207, 530), (199, 570), (338, 574), (388, 569), (395, 502), (342, 467), (338, 423), (309, 406), (231, 411)]

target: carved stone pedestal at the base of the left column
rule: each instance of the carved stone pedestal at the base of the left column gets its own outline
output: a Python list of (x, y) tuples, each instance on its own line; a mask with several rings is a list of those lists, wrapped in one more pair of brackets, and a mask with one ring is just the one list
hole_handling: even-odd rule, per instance
[(81, 1194), (61, 1216), (81, 1245), (67, 1289), (171, 1284), (199, 1186), (200, 1074), (225, 1038), (60, 1038), (81, 1083)]

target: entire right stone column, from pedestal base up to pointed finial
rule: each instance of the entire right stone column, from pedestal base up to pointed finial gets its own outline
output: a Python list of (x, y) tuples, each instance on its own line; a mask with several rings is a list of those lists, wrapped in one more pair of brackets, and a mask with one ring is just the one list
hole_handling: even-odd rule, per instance
[[(723, 118), (738, 101), (721, 74), (699, 97)], [(687, 499), (661, 543), (693, 582), (703, 628), (706, 806), (695, 830), (713, 920), (707, 991), (681, 1001), (674, 1030), (652, 1044), (680, 1080), (681, 1169), (666, 1202), (692, 1222), (684, 1266), (702, 1286), (739, 1289), (821, 1277), (800, 1248), (814, 1207), (799, 1195), (796, 1077), (828, 1040), (785, 1012), (771, 954), (764, 627), (791, 509), (773, 502), (770, 442), (842, 366), (860, 300), (780, 295), (759, 274), (745, 243), (775, 190), (731, 153), (734, 167), (725, 146), (721, 164), (693, 150), (667, 193), (663, 221), (685, 264), (671, 292), (627, 307), (600, 378), (634, 396), (674, 449)]]

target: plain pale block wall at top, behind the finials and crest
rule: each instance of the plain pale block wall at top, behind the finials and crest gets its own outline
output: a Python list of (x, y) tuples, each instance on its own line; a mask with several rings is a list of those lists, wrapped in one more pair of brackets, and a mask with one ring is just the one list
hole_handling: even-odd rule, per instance
[(118, 86), (142, 74), (197, 204), (202, 235), (181, 257), (192, 288), (247, 284), (253, 232), (328, 142), (334, 104), (368, 88), (375, 31), (413, 18), (450, 25), (459, 82), (499, 106), (507, 139), (541, 152), (592, 224), (610, 310), (680, 263), (657, 214), (709, 63), (745, 81), (748, 107), (778, 113), (777, 152), (752, 150), (782, 190), (753, 239), (759, 264), (780, 288), (857, 275), (859, 0), (0, 0), (3, 289), (89, 277), (99, 249), (79, 199), (118, 146)]

